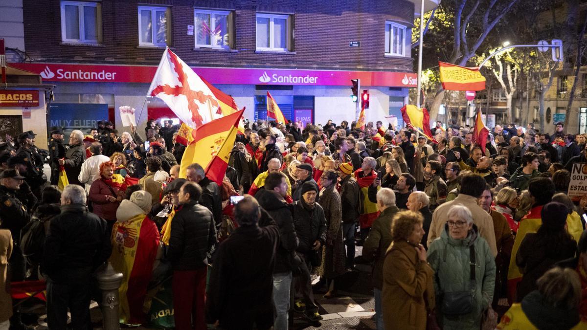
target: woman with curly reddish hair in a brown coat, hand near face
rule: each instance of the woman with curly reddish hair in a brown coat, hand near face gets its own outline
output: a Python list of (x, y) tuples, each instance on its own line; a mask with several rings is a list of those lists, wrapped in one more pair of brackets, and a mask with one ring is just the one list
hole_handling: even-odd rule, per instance
[(420, 244), (422, 223), (422, 215), (414, 211), (402, 211), (393, 218), (393, 242), (383, 264), (385, 329), (426, 329), (427, 311), (434, 308), (434, 271)]

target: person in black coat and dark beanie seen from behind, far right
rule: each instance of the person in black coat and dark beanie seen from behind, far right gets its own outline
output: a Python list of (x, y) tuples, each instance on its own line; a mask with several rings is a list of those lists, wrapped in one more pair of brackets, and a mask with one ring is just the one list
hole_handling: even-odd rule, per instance
[(536, 233), (528, 233), (519, 245), (515, 264), (523, 275), (516, 287), (516, 302), (537, 289), (538, 278), (556, 262), (575, 255), (577, 244), (565, 228), (568, 213), (565, 204), (546, 204), (541, 210), (542, 225)]

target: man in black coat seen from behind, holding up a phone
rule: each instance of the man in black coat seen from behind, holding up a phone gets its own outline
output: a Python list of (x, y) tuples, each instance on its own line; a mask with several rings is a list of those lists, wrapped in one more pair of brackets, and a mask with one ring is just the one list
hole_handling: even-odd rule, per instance
[(250, 195), (234, 206), (239, 227), (222, 241), (206, 299), (209, 321), (222, 329), (273, 326), (273, 270), (279, 227)]

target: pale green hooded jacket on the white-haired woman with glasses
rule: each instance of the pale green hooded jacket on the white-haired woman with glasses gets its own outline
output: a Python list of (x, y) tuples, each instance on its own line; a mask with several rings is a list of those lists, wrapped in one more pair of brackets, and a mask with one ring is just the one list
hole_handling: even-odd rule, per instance
[[(444, 329), (480, 328), (481, 312), (491, 304), (494, 294), (495, 261), (487, 241), (478, 236), (475, 224), (469, 230), (467, 237), (461, 240), (450, 237), (448, 224), (445, 224), (440, 238), (429, 245), (428, 262), (436, 273), (434, 291), (437, 297), (442, 297), (445, 292), (471, 289), (471, 245), (475, 248), (475, 305), (469, 314), (451, 316), (450, 318), (443, 315)], [(440, 301), (437, 302), (437, 305), (441, 305)]]

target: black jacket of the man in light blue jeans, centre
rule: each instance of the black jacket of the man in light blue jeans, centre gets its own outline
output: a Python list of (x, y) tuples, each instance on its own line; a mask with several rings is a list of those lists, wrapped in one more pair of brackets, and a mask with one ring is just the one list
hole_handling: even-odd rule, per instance
[(299, 257), (295, 254), (298, 247), (298, 235), (295, 232), (294, 220), (289, 206), (283, 197), (274, 191), (261, 189), (255, 195), (259, 205), (274, 218), (279, 227), (279, 245), (275, 252), (274, 274), (290, 272), (299, 265)]

